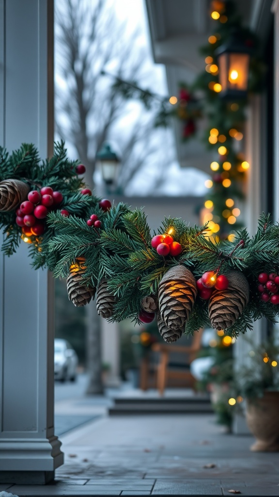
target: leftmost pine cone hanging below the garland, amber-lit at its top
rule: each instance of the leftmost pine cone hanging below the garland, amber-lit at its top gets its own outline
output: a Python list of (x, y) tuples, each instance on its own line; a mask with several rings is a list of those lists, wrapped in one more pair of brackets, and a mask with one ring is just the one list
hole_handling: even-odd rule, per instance
[(70, 266), (70, 274), (67, 278), (67, 290), (69, 300), (75, 307), (83, 307), (94, 299), (96, 288), (85, 285), (83, 274), (86, 266), (84, 257), (76, 257), (74, 264)]

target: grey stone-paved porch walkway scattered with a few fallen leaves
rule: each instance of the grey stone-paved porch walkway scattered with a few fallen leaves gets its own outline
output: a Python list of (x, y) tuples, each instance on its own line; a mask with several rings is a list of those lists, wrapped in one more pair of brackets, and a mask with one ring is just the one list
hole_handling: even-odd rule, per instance
[[(81, 403), (71, 409), (80, 414)], [(20, 497), (279, 496), (279, 453), (251, 452), (253, 437), (225, 434), (214, 415), (108, 417), (106, 403), (99, 399), (93, 407), (91, 400), (90, 407), (84, 399), (82, 412), (99, 417), (60, 436), (65, 464), (55, 484), (2, 485), (0, 491)], [(58, 412), (67, 405), (63, 401)]]

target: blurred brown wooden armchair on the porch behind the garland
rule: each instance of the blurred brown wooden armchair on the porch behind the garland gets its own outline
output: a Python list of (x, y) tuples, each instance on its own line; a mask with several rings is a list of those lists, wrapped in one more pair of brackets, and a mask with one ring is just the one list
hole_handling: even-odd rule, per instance
[[(140, 367), (140, 388), (155, 387), (163, 395), (168, 380), (172, 381), (172, 386), (185, 386), (195, 390), (196, 379), (191, 374), (190, 364), (197, 357), (201, 349), (203, 330), (195, 331), (191, 345), (172, 345), (167, 343), (154, 343), (152, 351), (158, 356), (157, 364), (150, 362), (150, 357), (145, 357)], [(185, 361), (183, 364), (175, 364), (173, 357), (175, 354), (183, 354)]]

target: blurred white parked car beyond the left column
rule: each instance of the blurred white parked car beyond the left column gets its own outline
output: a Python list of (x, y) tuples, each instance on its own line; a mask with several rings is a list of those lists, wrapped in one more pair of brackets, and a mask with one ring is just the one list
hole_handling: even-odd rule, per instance
[(60, 381), (75, 381), (78, 358), (67, 340), (54, 340), (54, 378)]

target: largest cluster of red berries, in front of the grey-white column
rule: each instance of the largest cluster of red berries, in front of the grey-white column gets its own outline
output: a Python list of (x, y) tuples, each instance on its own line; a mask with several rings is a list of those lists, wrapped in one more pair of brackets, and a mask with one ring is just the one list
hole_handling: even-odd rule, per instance
[(50, 209), (57, 207), (62, 200), (62, 193), (53, 191), (50, 186), (43, 186), (40, 191), (32, 190), (28, 193), (28, 200), (22, 202), (16, 210), (15, 222), (27, 237), (40, 236), (45, 231), (43, 220)]

